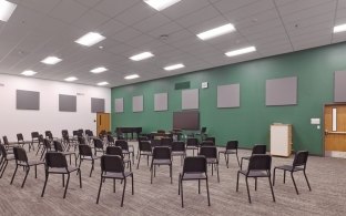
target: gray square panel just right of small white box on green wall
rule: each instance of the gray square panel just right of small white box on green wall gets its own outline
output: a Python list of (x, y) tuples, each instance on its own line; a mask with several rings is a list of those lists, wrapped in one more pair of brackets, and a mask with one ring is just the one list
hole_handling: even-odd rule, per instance
[(217, 107), (240, 107), (241, 85), (228, 84), (217, 86)]

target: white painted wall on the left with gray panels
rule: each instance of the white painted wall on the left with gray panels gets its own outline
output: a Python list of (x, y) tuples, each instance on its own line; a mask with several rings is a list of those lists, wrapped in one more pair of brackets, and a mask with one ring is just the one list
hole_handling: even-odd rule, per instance
[[(16, 107), (16, 91), (40, 92), (40, 110), (24, 111)], [(83, 93), (83, 95), (77, 95)], [(77, 112), (59, 112), (59, 94), (77, 95)], [(95, 113), (91, 113), (91, 97), (105, 101), (105, 112), (111, 111), (111, 89), (91, 85), (47, 81), (0, 74), (0, 135), (17, 141), (17, 133), (31, 140), (31, 132), (51, 131), (61, 137), (61, 130), (89, 128), (96, 132)]]

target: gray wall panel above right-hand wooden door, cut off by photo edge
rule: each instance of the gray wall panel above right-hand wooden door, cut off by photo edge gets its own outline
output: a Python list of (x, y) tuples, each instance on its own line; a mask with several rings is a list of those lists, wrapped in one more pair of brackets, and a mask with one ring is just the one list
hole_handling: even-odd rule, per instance
[(346, 102), (346, 71), (334, 73), (334, 102)]

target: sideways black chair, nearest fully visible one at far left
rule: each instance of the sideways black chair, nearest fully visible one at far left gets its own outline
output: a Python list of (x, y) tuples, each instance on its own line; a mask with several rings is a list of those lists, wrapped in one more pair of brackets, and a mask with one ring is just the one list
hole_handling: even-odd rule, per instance
[(44, 164), (44, 162), (42, 162), (42, 161), (29, 161), (28, 156), (27, 156), (27, 152), (22, 147), (14, 147), (13, 154), (14, 154), (14, 160), (16, 160), (16, 169), (14, 169), (14, 173), (12, 175), (11, 184), (13, 183), (18, 166), (22, 166), (27, 171), (26, 177), (24, 177), (23, 183), (21, 185), (21, 187), (24, 187), (30, 167), (34, 166), (34, 177), (38, 178), (38, 165)]

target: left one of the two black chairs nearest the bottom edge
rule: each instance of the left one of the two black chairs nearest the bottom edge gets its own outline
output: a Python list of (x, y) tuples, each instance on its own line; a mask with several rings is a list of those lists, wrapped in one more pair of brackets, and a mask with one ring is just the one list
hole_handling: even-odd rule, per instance
[(124, 162), (121, 156), (119, 155), (102, 155), (101, 157), (101, 181), (100, 181), (100, 188), (98, 193), (96, 204), (99, 204), (100, 194), (102, 183), (105, 178), (113, 178), (113, 192), (115, 193), (115, 179), (123, 181), (123, 194), (121, 198), (121, 207), (124, 204), (124, 195), (126, 189), (126, 178), (131, 176), (132, 178), (132, 195), (133, 195), (133, 173), (125, 172)]

